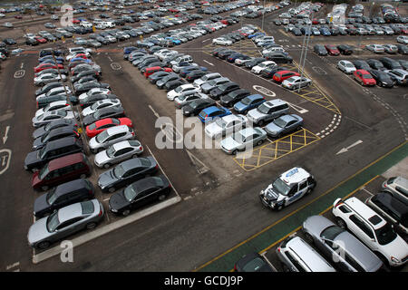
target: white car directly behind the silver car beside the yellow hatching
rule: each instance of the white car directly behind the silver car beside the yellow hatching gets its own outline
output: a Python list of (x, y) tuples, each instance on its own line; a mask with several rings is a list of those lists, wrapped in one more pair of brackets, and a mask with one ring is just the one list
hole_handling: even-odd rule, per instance
[(206, 125), (206, 135), (211, 139), (219, 139), (229, 133), (240, 131), (249, 124), (248, 118), (243, 115), (227, 115), (217, 118)]

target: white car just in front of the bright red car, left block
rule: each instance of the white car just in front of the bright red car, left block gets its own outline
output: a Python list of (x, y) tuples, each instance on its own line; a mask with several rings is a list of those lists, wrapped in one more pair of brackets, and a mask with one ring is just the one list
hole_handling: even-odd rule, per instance
[(89, 140), (89, 148), (92, 153), (100, 152), (114, 143), (123, 140), (131, 140), (134, 137), (134, 131), (127, 125), (111, 127), (102, 131)]

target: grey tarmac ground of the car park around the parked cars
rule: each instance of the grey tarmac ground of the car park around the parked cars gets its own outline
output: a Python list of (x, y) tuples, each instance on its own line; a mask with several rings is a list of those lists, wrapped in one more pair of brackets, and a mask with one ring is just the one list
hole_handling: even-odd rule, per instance
[[(58, 243), (46, 250), (32, 250), (27, 246), (27, 230), (35, 221), (32, 215), (34, 199), (39, 193), (31, 188), (29, 182), (32, 173), (24, 172), (23, 165), (25, 155), (32, 150), (30, 123), (36, 110), (33, 95), (37, 89), (32, 81), (33, 67), (38, 64), (38, 53), (43, 47), (18, 45), (24, 47), (25, 51), (2, 63), (0, 77), (0, 133), (4, 137), (0, 147), (0, 175), (5, 180), (2, 190), (5, 202), (1, 218), (10, 221), (0, 227), (3, 232), (10, 233), (9, 239), (2, 240), (2, 246), (9, 249), (1, 261), (3, 269), (229, 271), (241, 254), (256, 251), (262, 253), (278, 271), (282, 271), (275, 254), (278, 242), (283, 240), (282, 237), (292, 234), (303, 237), (299, 225), (307, 214), (316, 210), (310, 209), (298, 216), (295, 213), (316, 204), (316, 200), (323, 198), (336, 184), (341, 184), (355, 172), (365, 169), (374, 160), (395, 148), (406, 148), (408, 140), (408, 107), (404, 102), (406, 87), (364, 87), (355, 82), (353, 75), (342, 73), (336, 68), (339, 60), (353, 62), (384, 56), (407, 60), (406, 55), (400, 53), (378, 55), (364, 49), (364, 45), (370, 43), (395, 44), (396, 36), (355, 35), (353, 39), (346, 35), (311, 36), (302, 71), (303, 36), (285, 32), (283, 25), (273, 23), (278, 14), (292, 6), (266, 14), (264, 21), (262, 17), (241, 17), (238, 24), (228, 25), (212, 34), (170, 48), (189, 54), (193, 63), (206, 67), (209, 72), (228, 77), (250, 94), (260, 93), (267, 101), (278, 98), (287, 102), (289, 112), (304, 120), (299, 130), (276, 138), (268, 136), (245, 158), (226, 154), (220, 149), (217, 140), (214, 142), (215, 147), (202, 148), (201, 145), (213, 145), (213, 141), (208, 140), (205, 127), (199, 119), (182, 116), (181, 110), (176, 110), (174, 103), (167, 99), (165, 90), (159, 90), (137, 67), (123, 59), (123, 47), (136, 44), (138, 38), (92, 49), (90, 59), (102, 70), (100, 82), (109, 83), (112, 93), (120, 98), (126, 117), (133, 123), (135, 139), (141, 141), (144, 150), (139, 157), (152, 156), (157, 161), (160, 169), (156, 175), (165, 175), (170, 181), (171, 192), (165, 200), (141, 208), (129, 217), (113, 215), (108, 208), (112, 193), (102, 193), (97, 186), (98, 177), (106, 169), (100, 169), (94, 164), (95, 154), (89, 150), (89, 138), (83, 132), (85, 153), (92, 164), (89, 180), (95, 186), (95, 198), (102, 202), (105, 214), (95, 229), (69, 237), (74, 246), (73, 263), (60, 261), (59, 254), (63, 248)], [(206, 17), (210, 15), (204, 15), (204, 19)], [(141, 23), (132, 25), (139, 26)], [(302, 73), (312, 80), (312, 84), (299, 90), (288, 90), (272, 79), (251, 73), (244, 66), (228, 63), (212, 55), (212, 51), (218, 47), (211, 43), (212, 39), (237, 31), (246, 24), (253, 24), (259, 32), (273, 35), (275, 43), (281, 44), (293, 57), (293, 63), (279, 63), (279, 66)], [(30, 27), (30, 30), (43, 29), (43, 23), (37, 25)], [(180, 24), (180, 27), (186, 25)], [(163, 32), (168, 30), (163, 29)], [(17, 35), (17, 31), (18, 35), (22, 34), (21, 30), (15, 28), (7, 31), (6, 35), (12, 37)], [(23, 41), (23, 38), (17, 39)], [(313, 52), (315, 44), (328, 43), (346, 43), (360, 47), (361, 50), (357, 49), (352, 55), (339, 56), (319, 56)], [(49, 46), (65, 50), (80, 45), (74, 45), (70, 39), (66, 43), (59, 41)], [(262, 49), (249, 39), (240, 40), (228, 46), (228, 49), (250, 57), (262, 56)], [(65, 83), (73, 88), (70, 80)], [(220, 106), (219, 101), (216, 104)], [(231, 107), (228, 109), (233, 111)], [(80, 106), (75, 106), (74, 110), (82, 111)], [(166, 126), (163, 127), (160, 121), (166, 117)], [(190, 126), (185, 125), (186, 121)], [(266, 125), (260, 127), (265, 129)], [(192, 139), (194, 144), (199, 145), (189, 148), (186, 140), (191, 137), (190, 129), (193, 126), (200, 128), (194, 131)], [(158, 136), (170, 136), (170, 139), (175, 140), (174, 147), (159, 148)], [(406, 150), (401, 154), (402, 157), (403, 154), (406, 156)], [(399, 161), (395, 159), (392, 162)], [(393, 166), (391, 163), (390, 167)], [(406, 165), (401, 164), (406, 164), (406, 158), (400, 163), (406, 169)], [(316, 189), (279, 212), (263, 207), (257, 197), (258, 192), (265, 189), (278, 174), (294, 166), (305, 167), (313, 173), (317, 180)], [(395, 173), (406, 175), (401, 167), (394, 170)], [(355, 188), (350, 188), (347, 197), (355, 196), (364, 200), (378, 192), (381, 183), (392, 176), (389, 173), (381, 174), (357, 182)], [(328, 209), (316, 214), (334, 219)], [(264, 240), (259, 244), (251, 244), (252, 237), (263, 232), (266, 227), (285, 227), (285, 222), (281, 221), (287, 217), (296, 218), (287, 224), (287, 228), (279, 229), (273, 236), (277, 237), (276, 242), (271, 244)], [(289, 228), (295, 230), (287, 230)], [(225, 261), (224, 256), (228, 256)]]

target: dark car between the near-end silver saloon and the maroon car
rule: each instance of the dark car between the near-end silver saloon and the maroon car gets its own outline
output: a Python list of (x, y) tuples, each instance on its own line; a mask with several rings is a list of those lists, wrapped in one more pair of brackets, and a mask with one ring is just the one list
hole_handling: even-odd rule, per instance
[(53, 213), (54, 210), (85, 199), (92, 199), (94, 195), (95, 190), (88, 179), (74, 179), (65, 182), (35, 199), (34, 216), (36, 218), (44, 218)]

